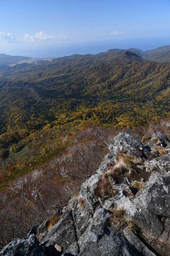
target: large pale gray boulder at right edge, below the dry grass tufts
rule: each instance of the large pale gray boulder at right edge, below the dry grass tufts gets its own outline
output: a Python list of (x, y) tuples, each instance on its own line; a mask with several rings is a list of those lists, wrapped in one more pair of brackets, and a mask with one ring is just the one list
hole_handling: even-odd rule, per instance
[(164, 230), (161, 217), (170, 217), (169, 195), (170, 173), (157, 173), (136, 194), (136, 198), (126, 196), (122, 189), (115, 197), (106, 200), (103, 208), (124, 209), (127, 219), (136, 221), (144, 233), (159, 238)]

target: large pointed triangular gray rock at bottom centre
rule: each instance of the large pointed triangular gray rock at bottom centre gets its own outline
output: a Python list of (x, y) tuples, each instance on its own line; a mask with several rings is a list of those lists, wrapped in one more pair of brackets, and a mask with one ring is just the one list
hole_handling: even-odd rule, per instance
[(117, 256), (117, 255), (141, 255), (113, 226), (108, 226), (112, 215), (105, 209), (96, 210), (93, 219), (78, 240), (80, 253), (78, 256)]

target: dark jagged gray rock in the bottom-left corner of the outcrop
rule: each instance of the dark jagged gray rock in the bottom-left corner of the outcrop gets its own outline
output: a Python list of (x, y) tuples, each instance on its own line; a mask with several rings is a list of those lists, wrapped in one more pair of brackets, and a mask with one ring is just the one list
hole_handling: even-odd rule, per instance
[(1, 256), (45, 256), (45, 250), (34, 234), (28, 239), (15, 238), (0, 252)]

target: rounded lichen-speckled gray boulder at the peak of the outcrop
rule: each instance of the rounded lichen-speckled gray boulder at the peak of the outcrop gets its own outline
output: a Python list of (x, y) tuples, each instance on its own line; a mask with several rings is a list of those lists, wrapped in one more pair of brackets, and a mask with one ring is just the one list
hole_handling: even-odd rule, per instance
[(124, 151), (132, 156), (142, 157), (144, 154), (144, 145), (128, 133), (120, 132), (112, 140), (109, 151), (115, 160), (119, 151)]

